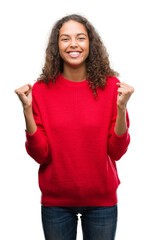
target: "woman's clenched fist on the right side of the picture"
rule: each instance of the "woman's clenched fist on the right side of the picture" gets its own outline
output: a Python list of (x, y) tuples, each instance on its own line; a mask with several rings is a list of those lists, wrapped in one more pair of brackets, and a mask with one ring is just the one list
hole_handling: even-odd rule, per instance
[(134, 92), (134, 88), (126, 83), (117, 83), (118, 96), (117, 96), (117, 107), (119, 109), (125, 109), (129, 98)]

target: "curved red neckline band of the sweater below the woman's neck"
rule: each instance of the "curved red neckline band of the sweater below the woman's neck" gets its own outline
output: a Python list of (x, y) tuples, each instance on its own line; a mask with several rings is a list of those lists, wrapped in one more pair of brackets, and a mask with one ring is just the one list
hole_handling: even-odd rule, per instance
[(68, 87), (79, 88), (88, 86), (88, 79), (81, 82), (74, 82), (64, 78), (61, 73), (59, 74), (58, 81)]

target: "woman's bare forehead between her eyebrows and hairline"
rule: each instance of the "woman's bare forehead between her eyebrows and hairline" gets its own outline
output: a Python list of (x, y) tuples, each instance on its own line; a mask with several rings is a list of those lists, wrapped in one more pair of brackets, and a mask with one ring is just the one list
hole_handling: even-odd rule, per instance
[(68, 35), (75, 35), (78, 33), (87, 34), (87, 30), (82, 23), (79, 23), (74, 20), (69, 20), (68, 22), (65, 22), (59, 31), (59, 34), (68, 34)]

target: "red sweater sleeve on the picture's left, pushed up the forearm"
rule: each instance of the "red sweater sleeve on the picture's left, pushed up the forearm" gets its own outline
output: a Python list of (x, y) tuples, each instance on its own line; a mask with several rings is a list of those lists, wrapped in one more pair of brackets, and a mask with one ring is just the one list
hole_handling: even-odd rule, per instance
[(35, 99), (32, 101), (33, 116), (37, 125), (37, 130), (32, 135), (25, 130), (26, 142), (25, 148), (27, 153), (39, 164), (50, 162), (50, 148), (48, 138), (46, 136), (40, 113), (38, 111)]

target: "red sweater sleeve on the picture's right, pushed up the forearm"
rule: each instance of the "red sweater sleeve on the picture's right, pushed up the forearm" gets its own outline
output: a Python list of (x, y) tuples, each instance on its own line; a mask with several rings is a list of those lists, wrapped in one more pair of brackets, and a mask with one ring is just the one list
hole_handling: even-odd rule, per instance
[(118, 136), (114, 131), (116, 117), (117, 117), (117, 89), (113, 101), (112, 120), (108, 134), (108, 155), (114, 160), (119, 160), (126, 153), (128, 145), (130, 143), (129, 135), (130, 122), (128, 111), (126, 109), (127, 131), (123, 135)]

